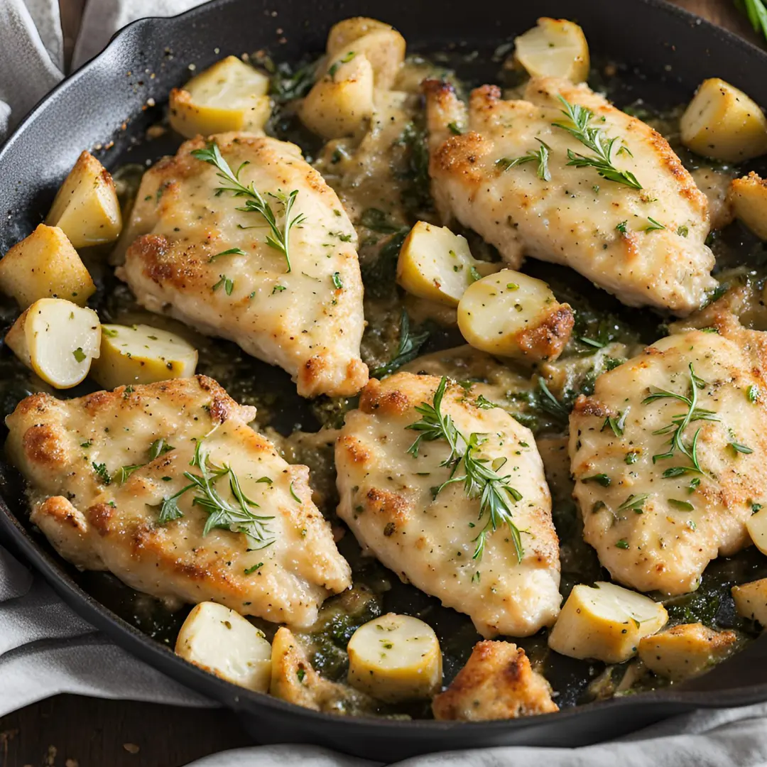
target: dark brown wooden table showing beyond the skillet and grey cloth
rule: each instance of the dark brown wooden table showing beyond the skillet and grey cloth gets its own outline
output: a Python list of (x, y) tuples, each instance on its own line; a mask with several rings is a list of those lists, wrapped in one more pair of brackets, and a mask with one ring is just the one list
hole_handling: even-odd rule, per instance
[[(71, 51), (85, 0), (60, 2)], [(731, 0), (672, 2), (759, 41)], [(223, 710), (73, 695), (59, 695), (0, 719), (0, 767), (176, 767), (249, 743), (235, 716)]]

